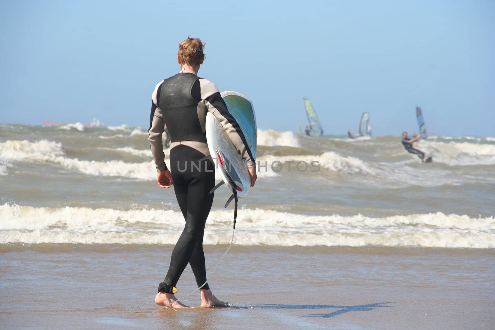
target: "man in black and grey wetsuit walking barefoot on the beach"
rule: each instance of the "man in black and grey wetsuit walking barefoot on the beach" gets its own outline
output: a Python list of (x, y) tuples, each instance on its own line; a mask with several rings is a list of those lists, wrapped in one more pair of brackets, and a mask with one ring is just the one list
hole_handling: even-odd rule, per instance
[[(158, 285), (155, 303), (160, 306), (188, 307), (174, 293), (182, 272), (191, 265), (200, 287), (201, 307), (225, 307), (206, 282), (203, 252), (203, 232), (213, 202), (215, 166), (209, 159), (206, 144), (206, 113), (211, 112), (222, 124), (227, 135), (247, 162), (251, 187), (256, 181), (256, 166), (239, 124), (228, 112), (218, 89), (212, 82), (197, 76), (203, 63), (204, 44), (198, 38), (188, 38), (179, 44), (177, 61), (181, 71), (156, 85), (151, 96), (149, 142), (156, 165), (158, 186), (174, 186), (177, 202), (186, 220), (177, 241), (165, 280)], [(168, 128), (171, 137), (170, 171), (163, 153), (162, 134)], [(185, 169), (185, 170), (184, 170)], [(205, 283), (203, 285), (203, 283)], [(201, 286), (202, 285), (202, 286)]]

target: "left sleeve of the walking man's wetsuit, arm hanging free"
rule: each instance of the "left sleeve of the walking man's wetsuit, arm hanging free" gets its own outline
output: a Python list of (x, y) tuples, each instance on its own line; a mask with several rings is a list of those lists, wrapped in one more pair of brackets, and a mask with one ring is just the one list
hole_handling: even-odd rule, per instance
[(154, 163), (157, 172), (163, 172), (167, 169), (165, 164), (165, 154), (163, 153), (163, 142), (161, 135), (165, 131), (165, 121), (160, 108), (157, 106), (157, 95), (161, 87), (160, 82), (156, 85), (153, 94), (151, 95), (151, 113), (149, 118), (148, 141), (151, 144), (151, 154), (153, 155)]

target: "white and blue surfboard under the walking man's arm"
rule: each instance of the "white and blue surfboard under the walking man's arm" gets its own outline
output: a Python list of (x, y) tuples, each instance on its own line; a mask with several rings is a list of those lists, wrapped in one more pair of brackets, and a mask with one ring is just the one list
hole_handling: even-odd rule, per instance
[[(222, 92), (220, 95), (227, 104), (229, 113), (239, 123), (252, 156), (256, 157), (256, 116), (251, 100), (243, 94), (232, 91)], [(222, 180), (232, 193), (235, 189), (238, 197), (245, 197), (251, 186), (246, 161), (237, 151), (218, 119), (210, 112), (206, 114), (205, 129), (208, 149), (211, 157), (216, 161)]]

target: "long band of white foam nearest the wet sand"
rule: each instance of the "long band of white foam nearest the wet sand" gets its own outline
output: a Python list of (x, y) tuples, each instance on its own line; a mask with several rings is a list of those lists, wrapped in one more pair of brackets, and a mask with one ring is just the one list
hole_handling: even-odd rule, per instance
[[(0, 243), (175, 244), (184, 227), (172, 210), (0, 206)], [(495, 248), (495, 219), (441, 212), (371, 218), (239, 210), (235, 244)], [(205, 244), (229, 242), (232, 212), (210, 213)]]

